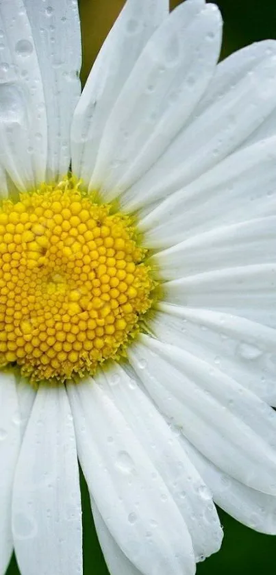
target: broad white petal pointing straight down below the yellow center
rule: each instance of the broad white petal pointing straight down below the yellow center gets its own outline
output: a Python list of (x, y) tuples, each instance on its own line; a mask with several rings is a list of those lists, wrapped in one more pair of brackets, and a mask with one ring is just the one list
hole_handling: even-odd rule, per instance
[(63, 387), (40, 386), (16, 467), (12, 531), (22, 575), (81, 574), (81, 501)]

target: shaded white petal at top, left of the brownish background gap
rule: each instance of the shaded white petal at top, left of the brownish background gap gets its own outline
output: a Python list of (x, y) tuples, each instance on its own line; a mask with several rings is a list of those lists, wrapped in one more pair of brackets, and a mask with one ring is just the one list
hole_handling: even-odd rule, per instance
[(42, 73), (48, 124), (47, 178), (62, 177), (71, 160), (72, 115), (81, 85), (77, 0), (24, 0)]

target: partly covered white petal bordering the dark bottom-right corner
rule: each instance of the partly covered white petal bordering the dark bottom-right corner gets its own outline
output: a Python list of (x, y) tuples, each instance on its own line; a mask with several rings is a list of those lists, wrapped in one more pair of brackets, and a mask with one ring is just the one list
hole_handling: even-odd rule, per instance
[(216, 503), (244, 525), (261, 533), (276, 535), (276, 498), (250, 489), (221, 472), (184, 437), (184, 448), (210, 487)]

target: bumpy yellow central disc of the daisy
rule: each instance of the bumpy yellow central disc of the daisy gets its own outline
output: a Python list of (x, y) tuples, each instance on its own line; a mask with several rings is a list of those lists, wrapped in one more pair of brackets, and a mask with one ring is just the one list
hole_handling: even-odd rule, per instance
[(153, 280), (130, 217), (73, 180), (0, 208), (0, 365), (32, 381), (94, 373), (124, 352)]

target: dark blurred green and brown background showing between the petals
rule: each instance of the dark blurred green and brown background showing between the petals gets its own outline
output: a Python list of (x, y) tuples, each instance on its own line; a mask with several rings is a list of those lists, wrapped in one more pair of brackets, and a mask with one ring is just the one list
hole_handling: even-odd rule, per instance
[[(123, 0), (79, 0), (84, 48), (81, 71), (83, 82), (123, 3)], [(174, 0), (172, 6), (177, 3), (179, 2)], [(276, 38), (276, 0), (221, 0), (217, 3), (225, 22), (223, 56), (256, 40)], [(83, 478), (81, 486), (84, 511), (84, 575), (108, 575), (93, 528), (89, 497)], [(198, 565), (197, 575), (254, 575), (261, 572), (275, 575), (276, 537), (255, 533), (226, 513), (219, 513), (225, 531), (223, 547), (220, 552)], [(7, 575), (18, 575), (14, 559)]]

